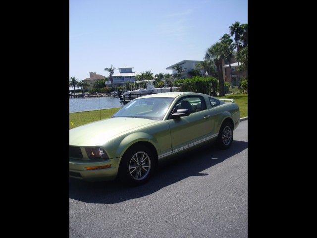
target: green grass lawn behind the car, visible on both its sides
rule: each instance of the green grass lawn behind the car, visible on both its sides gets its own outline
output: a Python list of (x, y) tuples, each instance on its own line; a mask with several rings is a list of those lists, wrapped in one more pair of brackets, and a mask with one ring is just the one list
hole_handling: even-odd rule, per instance
[[(238, 104), (240, 108), (240, 117), (241, 118), (248, 117), (248, 94), (247, 93), (230, 94), (224, 97), (216, 97), (216, 98), (234, 99), (234, 101)], [(109, 109), (103, 109), (103, 110), (69, 113), (69, 129), (72, 129), (77, 126), (84, 125), (96, 120), (110, 118), (120, 108), (109, 108)]]

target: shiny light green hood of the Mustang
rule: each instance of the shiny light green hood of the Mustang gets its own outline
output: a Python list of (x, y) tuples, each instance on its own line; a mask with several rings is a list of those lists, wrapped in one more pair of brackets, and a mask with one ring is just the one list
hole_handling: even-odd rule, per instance
[(137, 130), (158, 120), (141, 118), (109, 118), (98, 120), (69, 130), (69, 145), (98, 146), (122, 135)]

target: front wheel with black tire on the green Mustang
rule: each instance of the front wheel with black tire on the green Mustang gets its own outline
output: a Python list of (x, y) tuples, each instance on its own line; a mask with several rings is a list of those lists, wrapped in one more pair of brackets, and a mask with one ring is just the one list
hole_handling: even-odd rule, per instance
[(154, 171), (154, 156), (144, 146), (134, 146), (128, 149), (120, 162), (118, 178), (129, 185), (146, 183)]

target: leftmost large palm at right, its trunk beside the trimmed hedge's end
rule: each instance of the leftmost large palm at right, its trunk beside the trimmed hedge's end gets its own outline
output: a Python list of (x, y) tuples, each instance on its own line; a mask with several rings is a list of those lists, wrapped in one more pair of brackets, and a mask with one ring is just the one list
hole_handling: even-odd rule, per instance
[(217, 67), (218, 71), (218, 80), (219, 80), (219, 96), (224, 96), (224, 81), (223, 75), (221, 72), (222, 68), (222, 60), (223, 60), (223, 53), (222, 53), (222, 45), (220, 42), (214, 43), (210, 48), (207, 49), (205, 60), (212, 60)]

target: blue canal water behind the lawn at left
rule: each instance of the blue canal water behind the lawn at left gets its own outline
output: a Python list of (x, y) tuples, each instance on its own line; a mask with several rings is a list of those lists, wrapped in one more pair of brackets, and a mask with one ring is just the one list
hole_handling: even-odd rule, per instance
[(107, 108), (119, 108), (123, 105), (119, 98), (114, 97), (86, 97), (86, 98), (69, 98), (69, 112), (84, 112), (100, 110)]

